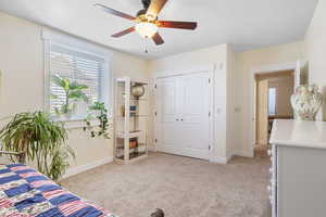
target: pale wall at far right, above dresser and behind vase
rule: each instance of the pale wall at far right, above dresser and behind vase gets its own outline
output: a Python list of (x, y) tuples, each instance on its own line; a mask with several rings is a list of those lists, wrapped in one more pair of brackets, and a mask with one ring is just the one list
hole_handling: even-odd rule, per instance
[[(326, 1), (318, 1), (305, 37), (306, 59), (309, 60), (309, 80), (316, 84), (324, 93), (326, 102)], [(326, 103), (318, 116), (326, 120)]]

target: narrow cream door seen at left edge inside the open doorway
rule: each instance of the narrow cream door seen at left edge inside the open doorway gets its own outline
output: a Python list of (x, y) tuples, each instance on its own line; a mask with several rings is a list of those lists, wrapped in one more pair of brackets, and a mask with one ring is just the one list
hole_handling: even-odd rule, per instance
[(268, 144), (268, 80), (256, 84), (256, 143)]

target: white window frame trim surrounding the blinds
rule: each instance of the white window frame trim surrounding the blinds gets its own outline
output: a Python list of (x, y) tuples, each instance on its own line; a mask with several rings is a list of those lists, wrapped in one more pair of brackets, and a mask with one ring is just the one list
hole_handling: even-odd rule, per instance
[[(90, 42), (87, 42), (83, 39), (79, 39), (77, 37), (64, 35), (57, 33), (54, 30), (50, 30), (47, 28), (42, 29), (42, 35), (41, 38), (43, 40), (43, 108), (46, 112), (50, 112), (50, 95), (51, 95), (51, 90), (50, 90), (50, 85), (51, 85), (51, 79), (50, 79), (50, 67), (51, 67), (51, 62), (50, 62), (50, 51), (51, 51), (51, 46), (59, 46), (72, 51), (93, 55), (100, 59), (104, 60), (103, 64), (103, 71), (102, 71), (102, 79), (100, 84), (100, 93), (101, 93), (101, 100), (104, 102), (105, 106), (110, 111), (110, 116), (113, 114), (113, 73), (111, 69), (111, 59), (112, 59), (112, 52), (108, 51), (106, 49), (92, 44)], [(87, 115), (87, 114), (85, 114)], [(59, 118), (55, 117), (54, 119), (58, 122), (74, 122), (70, 128), (78, 128), (82, 127), (80, 120), (84, 120), (86, 118), (82, 116), (72, 116), (72, 118)]]

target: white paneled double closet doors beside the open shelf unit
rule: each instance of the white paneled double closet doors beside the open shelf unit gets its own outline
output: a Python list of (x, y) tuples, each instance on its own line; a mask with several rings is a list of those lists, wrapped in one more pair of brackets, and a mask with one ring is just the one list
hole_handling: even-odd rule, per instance
[(209, 158), (209, 78), (198, 73), (158, 79), (159, 151)]

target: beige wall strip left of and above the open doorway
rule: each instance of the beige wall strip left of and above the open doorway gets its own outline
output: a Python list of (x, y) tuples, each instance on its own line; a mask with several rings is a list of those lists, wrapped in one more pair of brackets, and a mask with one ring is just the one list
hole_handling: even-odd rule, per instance
[(236, 107), (239, 108), (238, 116), (238, 146), (236, 152), (239, 154), (250, 156), (250, 122), (251, 119), (251, 104), (250, 95), (251, 91), (254, 91), (253, 87), (250, 87), (252, 79), (251, 71), (260, 68), (266, 65), (284, 64), (289, 62), (296, 62), (303, 59), (303, 46), (304, 43), (299, 41), (289, 44), (280, 44), (271, 48), (264, 48), (259, 50), (238, 52), (236, 53)]

